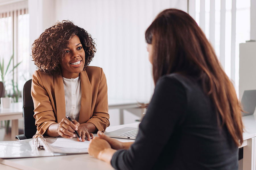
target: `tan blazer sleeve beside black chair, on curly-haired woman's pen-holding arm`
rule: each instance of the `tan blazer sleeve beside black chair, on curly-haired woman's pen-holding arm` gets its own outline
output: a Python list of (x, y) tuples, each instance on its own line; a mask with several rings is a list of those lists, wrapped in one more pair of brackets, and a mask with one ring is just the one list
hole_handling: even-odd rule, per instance
[(34, 118), (36, 119), (37, 131), (44, 135), (49, 126), (56, 123), (56, 118), (49, 94), (43, 86), (38, 71), (32, 76), (31, 96), (34, 102)]

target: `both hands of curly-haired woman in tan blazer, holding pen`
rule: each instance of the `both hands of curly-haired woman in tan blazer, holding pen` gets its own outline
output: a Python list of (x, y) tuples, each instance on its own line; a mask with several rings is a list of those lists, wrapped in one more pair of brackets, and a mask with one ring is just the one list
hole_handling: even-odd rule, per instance
[[(58, 134), (64, 138), (76, 137), (75, 130), (77, 131), (79, 136), (82, 138), (82, 142), (85, 141), (85, 137), (87, 138), (88, 141), (91, 140), (91, 137), (93, 139), (93, 134), (88, 132), (86, 123), (79, 124), (76, 120), (72, 120), (71, 122), (67, 118), (63, 118), (59, 123), (59, 127), (57, 129)], [(79, 141), (78, 138), (77, 138), (77, 141)]]

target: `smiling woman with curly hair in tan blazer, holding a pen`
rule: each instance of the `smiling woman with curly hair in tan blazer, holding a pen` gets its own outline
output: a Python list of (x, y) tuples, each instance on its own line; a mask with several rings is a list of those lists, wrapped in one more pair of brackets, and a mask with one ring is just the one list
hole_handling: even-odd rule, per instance
[(31, 95), (37, 133), (73, 138), (77, 130), (82, 141), (90, 141), (93, 132), (109, 126), (106, 76), (102, 68), (88, 66), (95, 52), (91, 35), (65, 20), (34, 41), (32, 58), (38, 70)]

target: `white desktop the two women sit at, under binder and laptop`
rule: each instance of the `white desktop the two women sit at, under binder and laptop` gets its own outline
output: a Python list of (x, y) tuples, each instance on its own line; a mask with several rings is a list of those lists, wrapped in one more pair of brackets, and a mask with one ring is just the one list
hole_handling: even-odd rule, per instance
[[(106, 131), (113, 131), (123, 127), (138, 127), (139, 123), (110, 126)], [(96, 135), (96, 134), (95, 134)], [(133, 139), (119, 139), (123, 142), (134, 141)], [(66, 156), (50, 156), (37, 158), (0, 159), (0, 169), (24, 169), (24, 170), (71, 170), (71, 169), (104, 169), (113, 170), (108, 163), (93, 158), (89, 154), (77, 154)]]

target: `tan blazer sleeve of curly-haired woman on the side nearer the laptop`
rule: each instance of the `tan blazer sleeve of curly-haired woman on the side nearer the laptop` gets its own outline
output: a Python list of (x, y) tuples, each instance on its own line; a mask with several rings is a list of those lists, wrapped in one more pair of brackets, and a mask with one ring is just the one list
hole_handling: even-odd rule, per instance
[(94, 126), (96, 126), (96, 128), (102, 132), (104, 132), (106, 128), (110, 125), (108, 114), (107, 79), (102, 68), (100, 73), (100, 83), (93, 115), (87, 122), (94, 124)]

